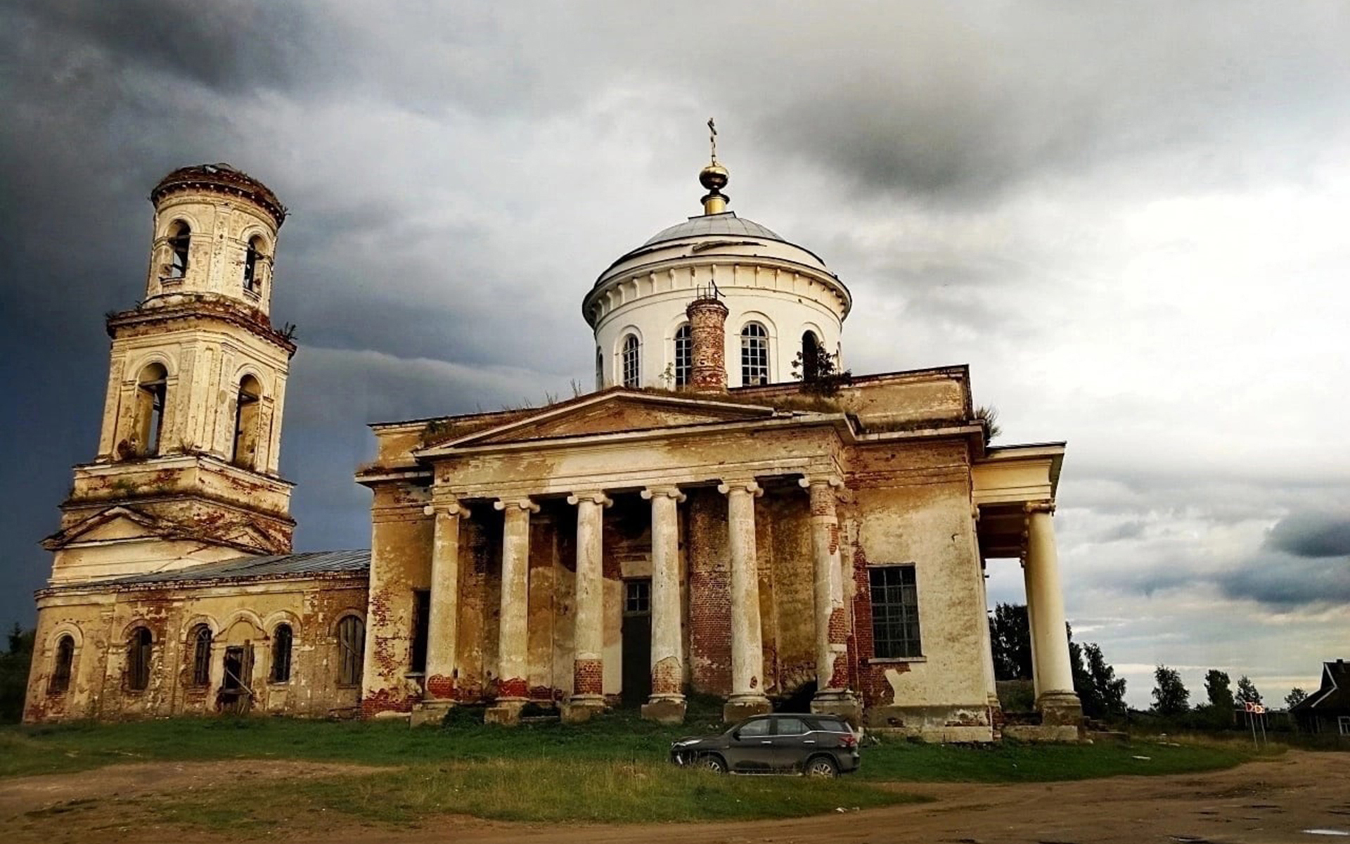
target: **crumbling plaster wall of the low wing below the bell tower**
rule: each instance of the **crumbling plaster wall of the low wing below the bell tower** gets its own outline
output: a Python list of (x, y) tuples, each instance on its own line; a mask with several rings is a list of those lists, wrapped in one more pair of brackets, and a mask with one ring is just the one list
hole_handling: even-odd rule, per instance
[[(38, 602), (24, 721), (216, 712), (227, 645), (254, 648), (252, 712), (328, 716), (354, 710), (359, 687), (338, 686), (335, 627), (344, 614), (363, 617), (364, 606), (366, 581), (350, 577), (49, 590)], [(271, 636), (284, 623), (294, 636), (290, 679), (273, 683)], [(197, 624), (207, 624), (213, 635), (211, 682), (201, 687), (192, 683), (189, 641)], [(153, 637), (150, 683), (134, 690), (127, 678), (128, 640), (140, 625)], [(57, 643), (65, 635), (76, 643), (70, 685), (53, 693)]]

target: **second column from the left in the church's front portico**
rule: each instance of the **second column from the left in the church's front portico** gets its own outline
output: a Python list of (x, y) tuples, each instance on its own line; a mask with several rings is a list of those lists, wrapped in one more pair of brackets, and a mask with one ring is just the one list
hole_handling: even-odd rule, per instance
[(518, 724), (529, 700), (526, 647), (529, 629), (529, 498), (500, 498), (502, 510), (502, 604), (497, 637), (497, 702), (483, 718), (489, 724)]

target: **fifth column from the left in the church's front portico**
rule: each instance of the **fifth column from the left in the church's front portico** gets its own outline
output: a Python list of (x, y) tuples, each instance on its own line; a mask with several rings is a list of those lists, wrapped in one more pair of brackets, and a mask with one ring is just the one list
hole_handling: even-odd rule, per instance
[(722, 720), (732, 722), (772, 709), (764, 697), (764, 643), (755, 552), (755, 498), (764, 490), (755, 481), (726, 481), (717, 490), (726, 496), (732, 556), (732, 695), (722, 708)]

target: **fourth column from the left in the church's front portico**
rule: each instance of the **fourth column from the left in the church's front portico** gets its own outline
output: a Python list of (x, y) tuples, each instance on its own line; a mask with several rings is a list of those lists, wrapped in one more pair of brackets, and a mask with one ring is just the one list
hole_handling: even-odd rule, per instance
[(674, 486), (643, 490), (652, 502), (652, 697), (643, 717), (684, 721), (684, 648), (680, 636), (679, 509)]

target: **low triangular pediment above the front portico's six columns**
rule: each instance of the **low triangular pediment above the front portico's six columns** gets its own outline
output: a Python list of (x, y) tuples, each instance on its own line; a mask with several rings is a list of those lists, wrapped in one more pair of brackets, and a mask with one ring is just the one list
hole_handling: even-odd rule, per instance
[(428, 448), (427, 454), (537, 440), (632, 433), (770, 419), (774, 408), (707, 398), (609, 390), (544, 408), (505, 425)]

